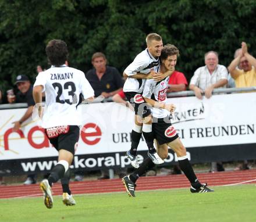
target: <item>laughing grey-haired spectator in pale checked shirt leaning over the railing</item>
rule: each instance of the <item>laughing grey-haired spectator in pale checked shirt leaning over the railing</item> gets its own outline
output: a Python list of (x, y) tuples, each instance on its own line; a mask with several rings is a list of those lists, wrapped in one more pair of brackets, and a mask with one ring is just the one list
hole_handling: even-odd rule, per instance
[[(199, 67), (190, 80), (189, 88), (195, 92), (198, 99), (211, 98), (214, 88), (225, 88), (227, 84), (227, 69), (219, 65), (218, 53), (209, 51), (204, 55), (205, 66)], [(224, 171), (222, 163), (212, 162), (210, 171)]]

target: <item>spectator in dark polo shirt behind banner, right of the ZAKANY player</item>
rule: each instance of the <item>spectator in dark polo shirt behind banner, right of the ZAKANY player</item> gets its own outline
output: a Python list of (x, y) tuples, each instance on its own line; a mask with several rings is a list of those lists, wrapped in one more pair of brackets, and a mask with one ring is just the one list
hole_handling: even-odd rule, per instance
[(91, 58), (94, 68), (86, 73), (86, 78), (94, 89), (95, 96), (105, 98), (115, 95), (123, 88), (123, 80), (115, 67), (106, 66), (106, 56), (95, 52)]

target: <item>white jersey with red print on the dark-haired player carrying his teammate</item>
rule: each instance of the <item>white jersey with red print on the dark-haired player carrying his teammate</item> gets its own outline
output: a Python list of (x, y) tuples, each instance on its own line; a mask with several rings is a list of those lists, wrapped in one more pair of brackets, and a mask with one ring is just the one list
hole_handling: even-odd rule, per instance
[[(168, 88), (169, 77), (166, 77), (162, 81), (154, 81), (153, 79), (146, 80), (144, 89), (143, 89), (143, 97), (148, 99), (153, 99), (159, 103), (166, 102), (166, 94)], [(166, 109), (152, 108), (151, 114), (156, 118), (165, 118), (169, 116), (170, 112)]]

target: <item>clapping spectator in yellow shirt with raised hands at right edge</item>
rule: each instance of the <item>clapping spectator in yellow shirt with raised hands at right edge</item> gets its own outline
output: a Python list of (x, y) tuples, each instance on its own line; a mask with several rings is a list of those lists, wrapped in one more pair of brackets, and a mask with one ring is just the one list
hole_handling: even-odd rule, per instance
[[(248, 53), (246, 42), (241, 43), (241, 50), (237, 49), (236, 58), (228, 69), (237, 88), (256, 86), (256, 59)], [(237, 69), (239, 67), (239, 69)]]

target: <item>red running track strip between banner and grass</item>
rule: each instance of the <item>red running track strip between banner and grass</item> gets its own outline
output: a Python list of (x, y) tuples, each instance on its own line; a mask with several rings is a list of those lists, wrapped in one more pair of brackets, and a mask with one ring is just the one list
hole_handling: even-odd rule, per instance
[[(201, 182), (207, 182), (209, 187), (220, 185), (251, 184), (256, 183), (256, 170), (227, 171), (215, 173), (198, 173)], [(184, 175), (141, 177), (137, 181), (136, 191), (149, 191), (155, 189), (189, 188), (190, 183)], [(126, 192), (121, 179), (91, 180), (70, 182), (72, 194), (97, 194), (108, 192)], [(60, 183), (52, 187), (54, 195), (62, 195)], [(41, 196), (38, 184), (33, 185), (1, 185), (0, 199), (23, 198)]]

